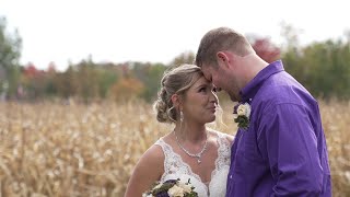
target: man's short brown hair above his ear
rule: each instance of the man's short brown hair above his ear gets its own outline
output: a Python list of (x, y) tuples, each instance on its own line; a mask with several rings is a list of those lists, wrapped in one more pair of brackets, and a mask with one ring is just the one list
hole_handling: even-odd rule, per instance
[(238, 32), (229, 27), (213, 28), (201, 38), (195, 65), (217, 65), (217, 53), (224, 50), (242, 57), (254, 53), (247, 38)]

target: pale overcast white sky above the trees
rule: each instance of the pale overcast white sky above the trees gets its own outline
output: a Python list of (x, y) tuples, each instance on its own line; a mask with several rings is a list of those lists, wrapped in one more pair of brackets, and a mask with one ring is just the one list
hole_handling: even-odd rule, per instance
[(21, 63), (65, 70), (94, 61), (170, 62), (196, 53), (202, 35), (229, 26), (282, 43), (280, 23), (302, 43), (339, 38), (350, 28), (346, 0), (0, 0), (8, 30), (23, 38)]

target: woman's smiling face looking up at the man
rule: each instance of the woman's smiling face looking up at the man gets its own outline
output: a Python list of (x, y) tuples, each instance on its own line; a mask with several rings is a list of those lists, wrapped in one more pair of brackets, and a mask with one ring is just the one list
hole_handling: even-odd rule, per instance
[(215, 88), (205, 77), (187, 90), (184, 96), (184, 119), (200, 124), (215, 120), (218, 96)]

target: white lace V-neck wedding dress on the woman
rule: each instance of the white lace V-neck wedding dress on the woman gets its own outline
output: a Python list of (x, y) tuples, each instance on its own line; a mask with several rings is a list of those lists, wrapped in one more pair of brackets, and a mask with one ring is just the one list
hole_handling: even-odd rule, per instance
[[(215, 131), (217, 132), (217, 131)], [(230, 170), (231, 160), (231, 144), (224, 134), (218, 134), (218, 158), (215, 160), (215, 169), (211, 172), (211, 181), (206, 185), (199, 175), (195, 174), (190, 166), (183, 161), (179, 154), (173, 151), (173, 148), (164, 142), (161, 138), (155, 144), (161, 146), (165, 155), (164, 160), (164, 174), (161, 182), (166, 179), (180, 178), (180, 182), (190, 183), (195, 186), (195, 192), (199, 197), (224, 197), (226, 194), (226, 182)]]

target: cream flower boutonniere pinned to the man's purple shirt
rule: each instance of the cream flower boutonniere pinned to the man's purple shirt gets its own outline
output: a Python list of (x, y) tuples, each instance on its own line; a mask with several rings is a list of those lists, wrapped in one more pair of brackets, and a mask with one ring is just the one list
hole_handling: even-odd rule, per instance
[(241, 103), (234, 107), (233, 114), (235, 115), (234, 123), (238, 124), (242, 129), (249, 127), (250, 105), (248, 103)]

